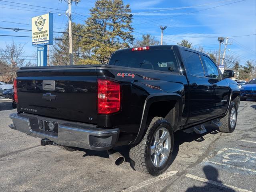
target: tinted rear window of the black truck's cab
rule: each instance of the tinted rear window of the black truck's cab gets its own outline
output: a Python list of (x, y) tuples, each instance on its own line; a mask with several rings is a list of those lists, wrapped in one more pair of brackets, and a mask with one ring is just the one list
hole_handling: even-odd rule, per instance
[(116, 52), (109, 65), (179, 72), (173, 50)]

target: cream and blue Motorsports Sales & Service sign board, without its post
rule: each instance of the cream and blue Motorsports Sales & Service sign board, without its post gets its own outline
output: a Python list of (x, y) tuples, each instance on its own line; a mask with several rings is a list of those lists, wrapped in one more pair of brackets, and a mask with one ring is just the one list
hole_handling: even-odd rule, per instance
[(32, 18), (32, 46), (52, 45), (52, 13)]

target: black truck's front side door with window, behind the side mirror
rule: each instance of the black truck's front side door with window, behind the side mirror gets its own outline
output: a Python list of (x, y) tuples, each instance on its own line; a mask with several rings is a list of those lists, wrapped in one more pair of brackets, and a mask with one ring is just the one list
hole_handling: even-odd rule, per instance
[(214, 89), (213, 99), (215, 105), (212, 114), (218, 116), (225, 113), (228, 108), (229, 86), (211, 58), (205, 54), (202, 54), (201, 58), (204, 63), (206, 77), (209, 78), (209, 82)]

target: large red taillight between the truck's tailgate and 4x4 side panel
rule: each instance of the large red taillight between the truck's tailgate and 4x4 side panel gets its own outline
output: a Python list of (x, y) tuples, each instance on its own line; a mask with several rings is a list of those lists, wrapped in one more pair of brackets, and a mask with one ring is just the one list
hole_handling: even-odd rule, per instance
[(120, 84), (98, 80), (98, 113), (110, 114), (120, 110)]

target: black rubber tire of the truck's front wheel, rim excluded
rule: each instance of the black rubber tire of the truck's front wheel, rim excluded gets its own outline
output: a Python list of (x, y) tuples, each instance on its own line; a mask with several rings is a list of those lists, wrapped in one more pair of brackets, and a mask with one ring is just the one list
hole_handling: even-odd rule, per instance
[(220, 119), (220, 122), (222, 123), (222, 125), (219, 126), (220, 132), (225, 132), (225, 133), (232, 133), (232, 132), (234, 132), (234, 130), (236, 128), (236, 124), (235, 124), (234, 128), (232, 128), (231, 124), (230, 124), (230, 114), (231, 114), (231, 110), (232, 110), (233, 107), (236, 110), (236, 118), (237, 118), (236, 104), (235, 104), (235, 102), (232, 101), (230, 103), (230, 107), (228, 109), (228, 114), (226, 114), (225, 117)]

